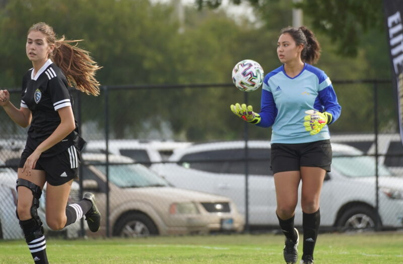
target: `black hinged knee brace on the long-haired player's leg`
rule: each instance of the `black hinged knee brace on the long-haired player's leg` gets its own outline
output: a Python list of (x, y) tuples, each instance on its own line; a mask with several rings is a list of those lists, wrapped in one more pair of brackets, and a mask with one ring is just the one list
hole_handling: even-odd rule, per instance
[[(42, 221), (38, 215), (39, 198), (42, 195), (42, 190), (36, 184), (31, 183), (30, 181), (27, 181), (24, 179), (17, 180), (16, 188), (18, 189), (19, 186), (24, 186), (24, 187), (30, 189), (34, 196), (34, 198), (32, 200), (31, 210), (30, 210), (32, 219), (23, 220), (23, 221), (20, 220), (20, 226), (21, 226), (22, 230), (24, 231), (25, 240), (27, 242), (30, 242), (36, 238), (43, 236), (43, 234), (44, 234), (43, 227), (42, 227)], [(18, 216), (17, 210), (16, 210), (16, 215), (17, 215), (17, 218), (20, 219)]]

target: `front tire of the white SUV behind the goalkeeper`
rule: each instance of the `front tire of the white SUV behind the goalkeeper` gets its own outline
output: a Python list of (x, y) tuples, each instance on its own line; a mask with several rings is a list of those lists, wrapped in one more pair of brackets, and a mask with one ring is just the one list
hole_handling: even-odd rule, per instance
[(368, 207), (352, 207), (339, 218), (337, 227), (340, 231), (373, 230), (376, 225), (376, 214)]

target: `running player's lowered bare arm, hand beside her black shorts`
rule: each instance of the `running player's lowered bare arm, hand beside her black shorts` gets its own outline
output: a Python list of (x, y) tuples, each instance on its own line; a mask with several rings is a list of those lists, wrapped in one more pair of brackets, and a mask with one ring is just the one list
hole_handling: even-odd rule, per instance
[(40, 143), (35, 151), (32, 152), (32, 154), (27, 158), (23, 171), (25, 171), (26, 168), (28, 171), (34, 168), (36, 161), (39, 159), (39, 156), (42, 154), (42, 152), (60, 142), (76, 128), (73, 110), (70, 106), (60, 108), (57, 112), (60, 116), (60, 124), (53, 131), (53, 133), (42, 143)]

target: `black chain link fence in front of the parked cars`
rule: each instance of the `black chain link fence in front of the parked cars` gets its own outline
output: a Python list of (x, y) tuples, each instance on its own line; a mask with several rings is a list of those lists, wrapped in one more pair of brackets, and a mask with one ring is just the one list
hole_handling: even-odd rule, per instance
[[(333, 162), (321, 194), (321, 229), (402, 228), (403, 147), (393, 88), (379, 80), (333, 86), (343, 109), (330, 126)], [(10, 92), (19, 106), (21, 92)], [(257, 110), (260, 93), (240, 93), (232, 84), (193, 84), (102, 86), (99, 97), (72, 94), (87, 146), (70, 201), (95, 193), (103, 220), (97, 233), (83, 221), (81, 228), (77, 223), (57, 235), (277, 229), (271, 130), (242, 122), (229, 109), (246, 102)], [(0, 237), (17, 239), (16, 167), (27, 129), (5, 111), (0, 120)], [(302, 225), (300, 205), (295, 222)]]

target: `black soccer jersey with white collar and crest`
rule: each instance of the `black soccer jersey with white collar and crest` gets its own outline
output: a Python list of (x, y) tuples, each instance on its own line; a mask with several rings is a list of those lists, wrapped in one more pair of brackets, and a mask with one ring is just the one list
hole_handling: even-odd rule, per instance
[[(60, 124), (58, 109), (72, 107), (73, 100), (67, 87), (64, 74), (50, 59), (35, 76), (33, 69), (24, 75), (21, 107), (28, 108), (32, 112), (26, 148), (31, 151), (35, 150), (53, 133)], [(41, 156), (53, 156), (68, 149), (74, 144), (76, 134), (73, 131), (56, 145), (44, 151)]]

